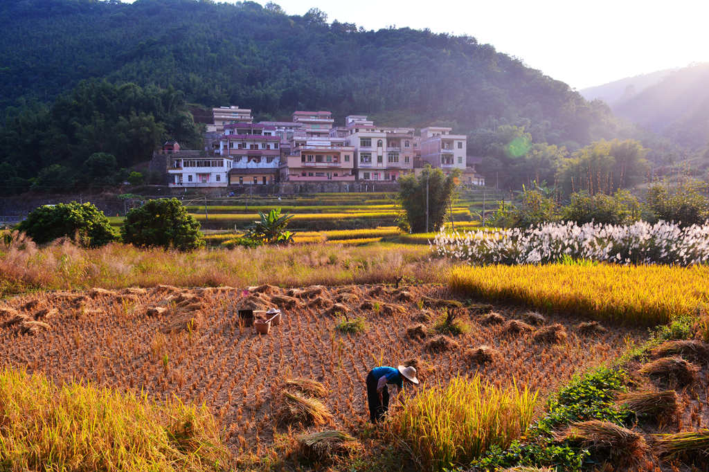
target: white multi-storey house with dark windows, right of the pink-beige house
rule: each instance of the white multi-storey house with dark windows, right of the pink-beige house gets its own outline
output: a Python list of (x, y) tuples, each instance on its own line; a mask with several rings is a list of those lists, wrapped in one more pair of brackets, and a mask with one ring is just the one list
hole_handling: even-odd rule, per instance
[(413, 172), (413, 128), (376, 126), (367, 116), (345, 118), (347, 145), (355, 150), (355, 173), (360, 181), (397, 181)]

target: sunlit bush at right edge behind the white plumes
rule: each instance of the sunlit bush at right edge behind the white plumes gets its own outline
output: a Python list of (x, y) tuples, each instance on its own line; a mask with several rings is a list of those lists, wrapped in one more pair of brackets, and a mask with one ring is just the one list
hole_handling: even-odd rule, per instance
[(700, 225), (709, 218), (707, 184), (687, 180), (674, 189), (653, 184), (647, 189), (647, 207), (657, 220), (674, 221), (681, 226)]

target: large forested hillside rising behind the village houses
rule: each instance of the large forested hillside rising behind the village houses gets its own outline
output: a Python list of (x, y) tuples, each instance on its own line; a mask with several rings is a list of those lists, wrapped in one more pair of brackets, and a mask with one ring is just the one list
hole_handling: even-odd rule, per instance
[[(96, 133), (89, 132), (95, 131), (91, 114), (79, 111), (77, 125), (65, 113), (71, 108), (57, 107), (85, 94), (74, 88), (92, 78), (134, 83), (153, 97), (118, 107), (128, 122), (130, 116), (152, 117), (162, 126), (153, 140), (190, 134), (184, 103), (245, 106), (257, 119), (326, 109), (338, 122), (350, 113), (367, 113), (382, 124), (446, 124), (469, 136), (476, 155), (508, 144), (500, 137), (510, 132), (568, 150), (603, 137), (628, 137), (604, 103), (588, 102), (563, 82), (474, 38), (409, 28), (366, 31), (330, 21), (317, 9), (289, 16), (275, 4), (264, 8), (254, 2), (4, 0), (0, 38), (0, 113), (6, 118), (0, 161), (9, 163), (6, 175), (22, 179), (62, 162), (76, 147), (82, 152), (74, 162), (102, 151), (100, 140), (91, 137)], [(177, 101), (155, 106), (154, 98), (163, 94)], [(91, 105), (99, 116), (101, 103)], [(23, 136), (31, 152), (19, 156), (13, 151), (18, 136), (34, 123), (48, 123), (37, 119), (43, 114), (65, 131), (65, 141), (74, 140), (73, 147), (60, 140), (62, 155), (50, 145), (31, 149)], [(108, 116), (111, 130), (118, 118)], [(182, 130), (175, 124), (180, 120)], [(77, 133), (77, 126), (86, 132)], [(143, 131), (138, 135), (145, 143)], [(128, 155), (128, 144), (113, 148), (118, 167), (144, 154), (141, 147), (140, 156)], [(508, 169), (505, 159), (493, 164), (481, 169), (489, 177)]]

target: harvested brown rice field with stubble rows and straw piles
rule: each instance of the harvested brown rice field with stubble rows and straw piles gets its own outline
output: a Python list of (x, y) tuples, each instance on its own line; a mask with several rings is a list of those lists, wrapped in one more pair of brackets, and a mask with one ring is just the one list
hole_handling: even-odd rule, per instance
[[(280, 308), (282, 320), (257, 335), (240, 308)], [(448, 313), (463, 332), (435, 332)], [(361, 318), (364, 331), (338, 330), (345, 317)], [(647, 339), (645, 328), (588, 321), (461, 300), (437, 285), (94, 288), (4, 300), (0, 369), (204, 402), (234, 454), (261, 454), (293, 426), (282, 414), (287, 378), (322, 383), (332, 415), (323, 422), (355, 432), (368, 419), (364, 378), (377, 365), (413, 360), (427, 386), (479, 373), (545, 398)]]

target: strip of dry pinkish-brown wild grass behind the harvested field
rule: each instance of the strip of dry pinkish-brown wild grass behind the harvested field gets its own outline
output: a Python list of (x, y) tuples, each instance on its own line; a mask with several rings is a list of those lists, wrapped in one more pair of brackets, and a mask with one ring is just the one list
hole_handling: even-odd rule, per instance
[(0, 242), (0, 296), (28, 290), (177, 286), (393, 283), (399, 276), (442, 282), (450, 262), (428, 247), (307, 245), (194, 252), (111, 244), (96, 249), (30, 240)]

